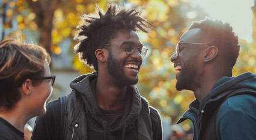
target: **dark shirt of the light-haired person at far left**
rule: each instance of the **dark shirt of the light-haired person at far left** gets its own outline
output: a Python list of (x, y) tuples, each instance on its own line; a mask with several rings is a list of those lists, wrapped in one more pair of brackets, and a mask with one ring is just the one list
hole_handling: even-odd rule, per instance
[(16, 129), (0, 117), (0, 139), (1, 140), (23, 140), (24, 133)]

